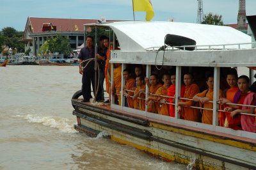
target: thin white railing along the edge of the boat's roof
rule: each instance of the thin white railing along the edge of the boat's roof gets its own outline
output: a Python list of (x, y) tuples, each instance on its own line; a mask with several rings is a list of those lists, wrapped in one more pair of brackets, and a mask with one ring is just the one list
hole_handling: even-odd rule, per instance
[[(227, 44), (216, 44), (216, 45), (182, 45), (182, 46), (166, 46), (164, 50), (186, 50), (186, 47), (195, 47), (195, 50), (230, 50), (230, 49), (243, 49), (243, 45), (253, 45), (256, 42), (250, 43), (227, 43)], [(236, 48), (230, 48), (236, 47)], [(229, 48), (228, 48), (229, 47)], [(161, 47), (149, 47), (146, 50), (159, 50)]]

